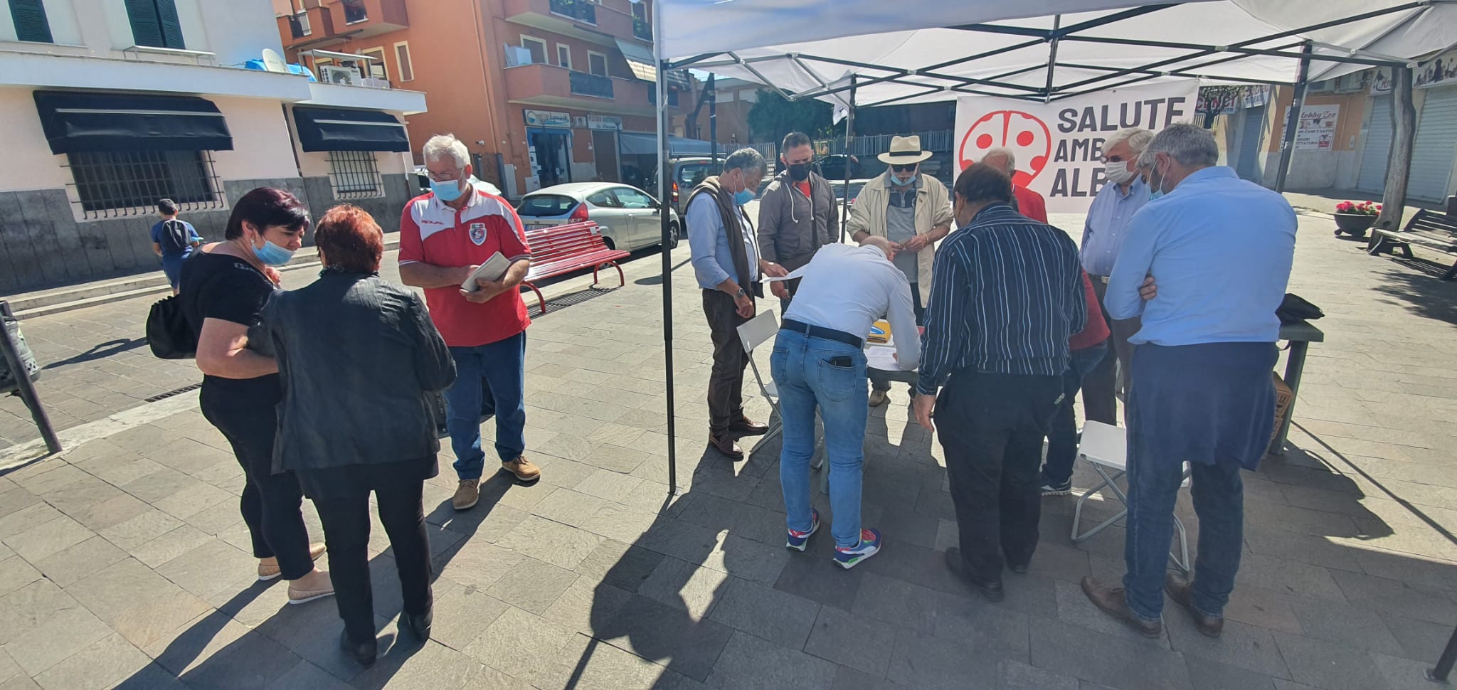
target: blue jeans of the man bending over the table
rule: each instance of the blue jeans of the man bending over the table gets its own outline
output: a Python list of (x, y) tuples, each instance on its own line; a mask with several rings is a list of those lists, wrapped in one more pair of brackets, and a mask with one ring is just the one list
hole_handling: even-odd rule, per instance
[[(830, 364), (848, 358), (849, 365)], [(769, 357), (779, 389), (784, 450), (779, 483), (791, 530), (810, 528), (810, 457), (814, 456), (814, 408), (825, 422), (829, 505), (835, 546), (860, 544), (861, 463), (865, 459), (865, 354), (854, 345), (779, 330)]]

